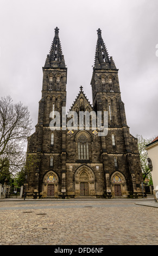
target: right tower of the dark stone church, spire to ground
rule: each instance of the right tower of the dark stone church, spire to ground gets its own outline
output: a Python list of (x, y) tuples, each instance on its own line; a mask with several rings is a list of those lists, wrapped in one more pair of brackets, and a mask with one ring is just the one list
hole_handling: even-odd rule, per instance
[(108, 135), (102, 138), (106, 191), (111, 193), (112, 188), (115, 194), (122, 194), (120, 184), (116, 182), (112, 185), (110, 178), (112, 175), (115, 181), (115, 175), (121, 178), (122, 174), (124, 177), (121, 179), (126, 180), (125, 189), (137, 194), (142, 180), (137, 140), (130, 135), (127, 125), (119, 88), (118, 69), (113, 58), (109, 57), (100, 28), (97, 34), (91, 86), (94, 110), (108, 111)]

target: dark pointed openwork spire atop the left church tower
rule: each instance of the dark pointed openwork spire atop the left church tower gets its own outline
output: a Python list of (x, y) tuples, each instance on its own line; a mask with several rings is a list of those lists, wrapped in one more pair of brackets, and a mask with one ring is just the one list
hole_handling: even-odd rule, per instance
[(53, 68), (66, 68), (64, 55), (62, 54), (60, 39), (59, 39), (59, 28), (56, 27), (55, 35), (50, 47), (50, 52), (47, 55), (45, 67)]

